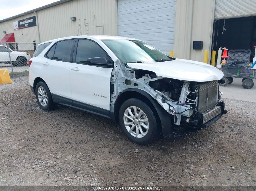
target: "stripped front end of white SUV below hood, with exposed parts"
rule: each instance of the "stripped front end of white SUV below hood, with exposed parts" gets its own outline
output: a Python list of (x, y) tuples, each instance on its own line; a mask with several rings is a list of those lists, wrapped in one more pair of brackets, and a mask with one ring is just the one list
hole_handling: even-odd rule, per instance
[(157, 76), (154, 72), (128, 67), (116, 60), (111, 75), (110, 111), (116, 113), (118, 98), (137, 91), (151, 103), (161, 120), (163, 136), (179, 136), (203, 129), (217, 121), (224, 110), (218, 80), (195, 82)]

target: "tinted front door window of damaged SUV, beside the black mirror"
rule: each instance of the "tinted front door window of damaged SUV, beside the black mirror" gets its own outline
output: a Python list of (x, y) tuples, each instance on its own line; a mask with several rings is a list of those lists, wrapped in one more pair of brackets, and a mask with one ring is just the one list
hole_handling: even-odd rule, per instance
[(76, 61), (80, 64), (87, 64), (88, 58), (104, 57), (108, 62), (112, 62), (109, 56), (101, 47), (91, 40), (79, 39), (76, 52)]

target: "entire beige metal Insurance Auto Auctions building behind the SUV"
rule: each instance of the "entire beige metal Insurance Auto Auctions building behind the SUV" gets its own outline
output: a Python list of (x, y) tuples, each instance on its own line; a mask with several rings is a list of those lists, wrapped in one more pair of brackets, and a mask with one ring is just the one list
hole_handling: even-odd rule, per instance
[[(144, 40), (166, 54), (174, 50), (177, 58), (203, 61), (208, 50), (210, 63), (211, 50), (235, 47), (232, 38), (242, 49), (256, 44), (255, 7), (255, 0), (61, 0), (0, 21), (0, 39), (8, 42), (5, 35), (12, 33), (15, 42), (119, 35)], [(194, 41), (202, 48), (194, 49)]]

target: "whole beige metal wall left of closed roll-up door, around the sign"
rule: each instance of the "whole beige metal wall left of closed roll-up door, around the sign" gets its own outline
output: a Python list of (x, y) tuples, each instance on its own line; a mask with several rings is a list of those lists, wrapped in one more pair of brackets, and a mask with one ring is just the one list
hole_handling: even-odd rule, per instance
[[(41, 42), (75, 35), (117, 35), (116, 4), (116, 0), (73, 0), (46, 8), (37, 11), (35, 27), (13, 29), (13, 22), (35, 13), (0, 23), (0, 39), (5, 36), (2, 31), (6, 31), (14, 33), (16, 42), (39, 42), (38, 27)], [(76, 17), (76, 21), (70, 17)]]

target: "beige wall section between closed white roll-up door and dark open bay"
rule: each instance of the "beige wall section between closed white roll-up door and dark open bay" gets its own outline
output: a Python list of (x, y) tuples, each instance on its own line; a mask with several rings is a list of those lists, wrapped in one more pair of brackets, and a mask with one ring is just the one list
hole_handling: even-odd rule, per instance
[[(202, 62), (204, 50), (211, 51), (215, 0), (176, 2), (174, 56)], [(202, 50), (193, 50), (193, 41), (203, 41)], [(210, 53), (208, 63), (210, 63)]]

